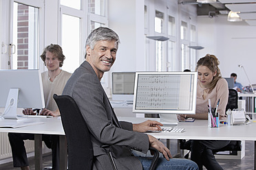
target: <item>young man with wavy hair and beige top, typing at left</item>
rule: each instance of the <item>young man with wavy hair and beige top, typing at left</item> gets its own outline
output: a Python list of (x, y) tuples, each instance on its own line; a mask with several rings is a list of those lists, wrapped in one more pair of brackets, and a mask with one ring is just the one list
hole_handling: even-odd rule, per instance
[[(41, 110), (40, 114), (56, 117), (60, 115), (60, 112), (53, 99), (53, 95), (54, 93), (61, 95), (67, 80), (72, 74), (61, 69), (65, 56), (59, 45), (51, 44), (47, 46), (41, 55), (41, 59), (47, 67), (47, 71), (42, 73), (45, 108)], [(27, 108), (23, 110), (23, 114), (35, 113), (32, 108)], [(34, 140), (34, 134), (9, 133), (8, 137), (12, 147), (14, 167), (21, 167), (22, 170), (30, 169), (24, 140)], [(52, 169), (59, 170), (58, 135), (43, 134), (43, 141), (48, 148), (52, 149)]]

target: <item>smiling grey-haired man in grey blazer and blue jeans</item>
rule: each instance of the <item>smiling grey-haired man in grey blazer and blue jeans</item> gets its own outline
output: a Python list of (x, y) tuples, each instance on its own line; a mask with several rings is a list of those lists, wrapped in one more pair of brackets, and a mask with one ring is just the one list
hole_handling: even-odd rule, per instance
[[(109, 71), (116, 60), (119, 37), (107, 27), (99, 27), (89, 34), (86, 41), (85, 62), (76, 69), (63, 90), (78, 104), (92, 136), (94, 148), (93, 169), (111, 169), (111, 161), (101, 146), (109, 145), (117, 169), (147, 169), (151, 160), (132, 156), (131, 149), (147, 152), (149, 146), (160, 151), (164, 158), (158, 163), (163, 169), (198, 169), (191, 160), (171, 159), (167, 147), (151, 135), (148, 130), (161, 130), (157, 121), (140, 124), (119, 122), (109, 99), (100, 84), (105, 71)], [(72, 113), (71, 113), (72, 114)]]

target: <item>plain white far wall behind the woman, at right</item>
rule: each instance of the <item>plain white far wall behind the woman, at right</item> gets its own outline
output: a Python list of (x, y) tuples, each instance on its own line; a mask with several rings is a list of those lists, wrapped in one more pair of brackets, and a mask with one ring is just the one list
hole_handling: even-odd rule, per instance
[(256, 84), (256, 26), (247, 23), (231, 23), (227, 16), (210, 19), (208, 16), (198, 17), (198, 44), (204, 49), (199, 56), (214, 54), (220, 60), (222, 77), (230, 77), (237, 73), (237, 82), (248, 85), (244, 70), (237, 65), (242, 64), (251, 84)]

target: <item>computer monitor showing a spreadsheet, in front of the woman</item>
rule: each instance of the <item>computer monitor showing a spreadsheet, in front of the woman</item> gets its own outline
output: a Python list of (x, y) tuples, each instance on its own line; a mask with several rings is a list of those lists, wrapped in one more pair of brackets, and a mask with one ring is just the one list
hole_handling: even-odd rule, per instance
[(197, 72), (137, 72), (133, 112), (160, 114), (164, 125), (177, 125), (176, 114), (195, 114)]

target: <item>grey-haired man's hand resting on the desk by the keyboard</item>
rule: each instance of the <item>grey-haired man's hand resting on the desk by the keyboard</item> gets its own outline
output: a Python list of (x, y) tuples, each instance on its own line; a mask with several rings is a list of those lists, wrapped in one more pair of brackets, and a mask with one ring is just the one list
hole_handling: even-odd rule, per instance
[(136, 132), (147, 132), (149, 130), (151, 131), (161, 131), (162, 123), (158, 121), (144, 121), (142, 123), (133, 124), (133, 130)]

